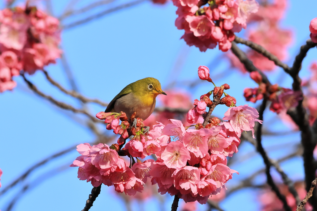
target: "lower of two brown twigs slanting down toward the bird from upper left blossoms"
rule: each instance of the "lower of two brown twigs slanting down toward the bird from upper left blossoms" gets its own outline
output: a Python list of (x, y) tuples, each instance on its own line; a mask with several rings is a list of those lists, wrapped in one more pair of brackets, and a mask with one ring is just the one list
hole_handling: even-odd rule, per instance
[(53, 104), (55, 104), (56, 106), (62, 108), (62, 109), (66, 109), (66, 110), (71, 110), (73, 111), (74, 113), (81, 113), (81, 114), (85, 114), (86, 116), (88, 116), (92, 121), (94, 122), (97, 122), (97, 118), (90, 115), (87, 111), (85, 110), (81, 110), (81, 109), (76, 109), (74, 108), (73, 106), (69, 105), (69, 104), (66, 104), (64, 102), (60, 102), (60, 101), (57, 101), (55, 100), (53, 97), (49, 96), (49, 95), (46, 95), (44, 94), (43, 92), (41, 92), (40, 90), (38, 90), (36, 88), (36, 86), (34, 84), (32, 84), (28, 79), (25, 78), (24, 74), (21, 74), (21, 76), (23, 77), (24, 81), (28, 84), (29, 88), (31, 90), (33, 90), (36, 94), (44, 97), (45, 99), (49, 100), (50, 102), (52, 102)]

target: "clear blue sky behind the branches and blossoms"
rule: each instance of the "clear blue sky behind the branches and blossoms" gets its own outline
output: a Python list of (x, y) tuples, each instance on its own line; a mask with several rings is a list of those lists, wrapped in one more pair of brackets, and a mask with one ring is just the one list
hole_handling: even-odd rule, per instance
[[(57, 16), (65, 6), (62, 2), (53, 1), (54, 14)], [(89, 3), (83, 1), (83, 4), (85, 2)], [(282, 27), (291, 28), (294, 33), (293, 45), (289, 48), (290, 59), (286, 61), (289, 65), (292, 64), (300, 45), (309, 37), (308, 25), (316, 17), (316, 8), (317, 2), (313, 0), (305, 3), (292, 0), (289, 3), (286, 16), (281, 22)], [(212, 78), (213, 75), (229, 69), (228, 61), (217, 49), (209, 49), (201, 53), (195, 47), (187, 47), (184, 40), (180, 40), (183, 31), (174, 26), (177, 17), (175, 11), (176, 7), (171, 2), (163, 6), (145, 2), (63, 31), (62, 46), (83, 95), (109, 102), (126, 84), (145, 77), (158, 78), (163, 90), (172, 82), (181, 82), (173, 89), (187, 90), (191, 92), (193, 99), (209, 91), (211, 88), (207, 83), (189, 90), (186, 81), (197, 78), (199, 65), (209, 66)], [(179, 55), (184, 59), (183, 64), (176, 63)], [(217, 60), (211, 66), (210, 63), (215, 58)], [(309, 51), (304, 60), (302, 76), (308, 76), (307, 67), (314, 59), (317, 60), (316, 49)], [(173, 71), (175, 69), (178, 71)], [(50, 65), (47, 70), (53, 78), (70, 88), (60, 61), (56, 65)], [(280, 72), (278, 70), (269, 74), (273, 83), (276, 82), (276, 75), (280, 75)], [(237, 104), (245, 104), (243, 89), (245, 86), (255, 87), (256, 84), (247, 75), (237, 71), (226, 71), (225, 76), (228, 77), (217, 79), (216, 84), (230, 84), (230, 95), (236, 97)], [(40, 71), (28, 78), (45, 93), (79, 106), (78, 102), (72, 101), (50, 86)], [(20, 77), (16, 77), (15, 80), (18, 83), (15, 90), (0, 94), (0, 168), (3, 170), (1, 177), (3, 187), (29, 166), (48, 155), (76, 143), (94, 140), (94, 135), (89, 130), (69, 118), (71, 112), (58, 109), (35, 96)], [(285, 77), (284, 84), (290, 87), (288, 76)], [(92, 105), (89, 109), (94, 114), (105, 108)], [(226, 109), (224, 106), (219, 106), (215, 114), (222, 117)], [(269, 122), (264, 122), (264, 127), (270, 127)], [(287, 130), (286, 126), (281, 124), (276, 124), (276, 128)], [(266, 147), (281, 143), (290, 143), (289, 147), (291, 147), (299, 142), (299, 135), (284, 136), (282, 139), (265, 137), (263, 141)], [(245, 145), (239, 150), (239, 156), (243, 157), (254, 149)], [(275, 150), (270, 155), (277, 158), (283, 153), (285, 151)], [(8, 200), (16, 195), (24, 184), (32, 184), (49, 177), (23, 195), (13, 210), (81, 210), (92, 186), (77, 179), (77, 168), (67, 167), (78, 155), (79, 153), (74, 151), (36, 171), (25, 183), (18, 185), (1, 198), (0, 209), (6, 208)], [(232, 168), (239, 171), (240, 175), (234, 175), (228, 186), (262, 166), (262, 159), (259, 156), (254, 156), (248, 165), (234, 165)], [(293, 159), (282, 167), (293, 179), (300, 179), (303, 176), (301, 159)], [(58, 173), (61, 169), (65, 171)], [(259, 177), (258, 181), (261, 182), (263, 179)], [(113, 193), (113, 187), (103, 186), (91, 210), (125, 210), (123, 201)], [(239, 191), (222, 202), (221, 207), (224, 210), (233, 208), (244, 211), (256, 210), (259, 205), (256, 203), (255, 193), (248, 189)], [(171, 197), (167, 198), (165, 208), (169, 210)], [(247, 207), (244, 206), (246, 201), (248, 201)], [(205, 210), (206, 207), (201, 206), (199, 209)], [(139, 210), (136, 202), (133, 202), (133, 210)], [(159, 210), (159, 202), (153, 199), (147, 201), (144, 210)]]

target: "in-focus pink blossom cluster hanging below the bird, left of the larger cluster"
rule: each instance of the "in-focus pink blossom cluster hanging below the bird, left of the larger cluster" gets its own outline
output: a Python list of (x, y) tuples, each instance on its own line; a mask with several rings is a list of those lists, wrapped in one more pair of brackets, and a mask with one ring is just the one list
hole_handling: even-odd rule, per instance
[(101, 143), (94, 146), (88, 143), (80, 144), (77, 151), (81, 156), (70, 166), (79, 167), (78, 178), (91, 182), (94, 187), (103, 183), (107, 186), (113, 185), (117, 192), (125, 192), (128, 195), (142, 192), (154, 160), (138, 162), (130, 168), (119, 157), (115, 148)]

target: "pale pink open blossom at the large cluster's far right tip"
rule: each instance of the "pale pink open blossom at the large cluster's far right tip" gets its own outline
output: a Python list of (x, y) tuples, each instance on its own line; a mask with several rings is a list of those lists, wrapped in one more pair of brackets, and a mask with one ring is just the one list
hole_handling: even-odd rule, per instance
[(223, 120), (230, 121), (232, 128), (237, 133), (238, 137), (241, 136), (241, 132), (244, 131), (252, 131), (254, 137), (254, 125), (255, 121), (260, 122), (256, 118), (259, 117), (259, 113), (255, 108), (249, 107), (248, 105), (231, 107), (225, 113)]

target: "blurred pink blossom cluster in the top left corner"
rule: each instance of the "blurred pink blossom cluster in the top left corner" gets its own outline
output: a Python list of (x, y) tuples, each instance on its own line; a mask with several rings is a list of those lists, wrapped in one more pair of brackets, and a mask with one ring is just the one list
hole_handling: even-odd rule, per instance
[(33, 74), (61, 57), (59, 21), (35, 7), (0, 11), (0, 92), (20, 70)]

